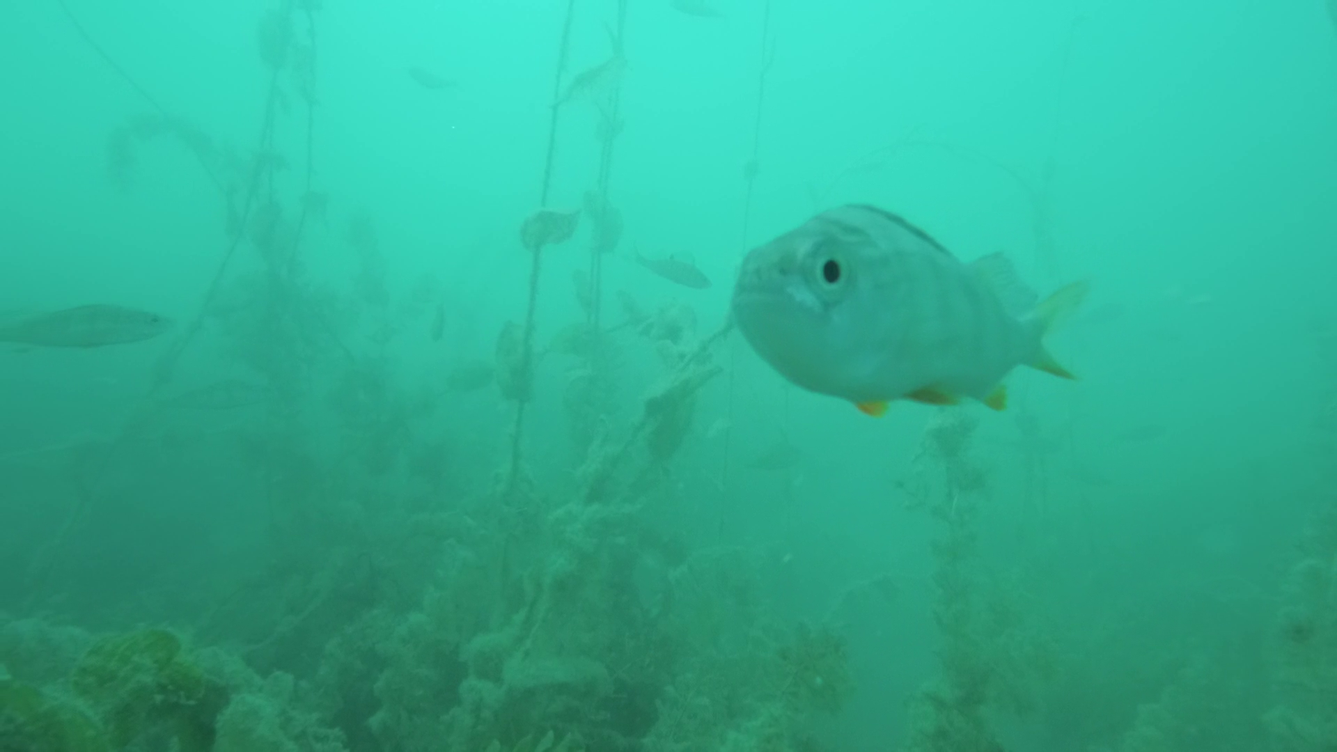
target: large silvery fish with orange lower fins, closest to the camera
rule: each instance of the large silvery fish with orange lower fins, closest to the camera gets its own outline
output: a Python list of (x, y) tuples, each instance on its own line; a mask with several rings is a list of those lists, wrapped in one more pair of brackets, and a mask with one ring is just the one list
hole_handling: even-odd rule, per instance
[(1086, 293), (1075, 282), (1035, 305), (1000, 254), (963, 264), (905, 219), (849, 205), (753, 249), (731, 308), (782, 376), (882, 415), (897, 399), (1003, 409), (1003, 377), (1023, 364), (1071, 379), (1043, 337)]

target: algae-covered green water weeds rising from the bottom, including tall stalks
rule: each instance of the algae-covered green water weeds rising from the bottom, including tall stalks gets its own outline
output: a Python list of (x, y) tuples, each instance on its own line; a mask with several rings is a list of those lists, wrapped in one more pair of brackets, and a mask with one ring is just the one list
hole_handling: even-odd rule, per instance
[[(461, 391), (499, 388), (513, 419), (485, 455), (493, 482), (465, 483), (455, 458), (469, 438), (397, 347), (432, 317), (436, 293), (393, 293), (366, 215), (341, 241), (317, 234), (329, 211), (312, 167), (318, 5), (282, 3), (259, 23), (269, 87), (251, 149), (163, 110), (112, 134), (108, 165), (126, 187), (146, 179), (143, 150), (185, 147), (218, 187), (226, 238), (214, 284), (124, 430), (5, 459), (17, 480), (0, 503), (23, 523), (0, 530), (0, 752), (1337, 748), (1330, 407), (1313, 431), (1313, 523), (1274, 595), (1251, 601), (1245, 629), (1226, 638), (1175, 644), (1130, 642), (1139, 632), (1127, 613), (1072, 613), (1039, 594), (1035, 571), (1000, 566), (997, 527), (983, 521), (1004, 516), (991, 512), (1001, 476), (972, 413), (943, 411), (888, 499), (920, 510), (935, 537), (933, 637), (909, 648), (932, 656), (928, 678), (909, 697), (872, 700), (904, 717), (900, 737), (834, 732), (868, 692), (860, 676), (901, 668), (856, 656), (838, 620), (778, 607), (763, 547), (709, 543), (675, 522), (674, 460), (702, 391), (726, 379), (726, 331), (698, 332), (678, 302), (642, 312), (626, 300), (615, 314), (600, 304), (600, 258), (622, 231), (607, 182), (620, 45), (583, 74), (570, 75), (564, 55), (558, 67), (554, 122), (570, 102), (603, 104), (599, 167), (583, 211), (517, 222), (533, 265), (528, 309), (489, 363), (452, 376)], [(279, 143), (279, 124), (293, 126), (282, 130), (293, 145)], [(753, 163), (749, 185), (755, 177)], [(545, 169), (540, 206), (550, 182)], [(586, 320), (540, 349), (540, 262), (578, 237), (591, 252), (578, 280)], [(352, 284), (309, 269), (310, 248), (336, 242), (357, 260)], [(1318, 368), (1337, 384), (1337, 337), (1318, 341)], [(550, 355), (564, 365), (540, 384)], [(245, 379), (214, 380), (221, 372)], [(527, 409), (540, 385), (562, 404), (567, 446), (543, 436), (544, 451), (574, 458), (567, 475), (533, 471)], [(1320, 397), (1337, 404), (1337, 392)], [(249, 412), (201, 430), (183, 407)], [(245, 563), (183, 563), (143, 573), (144, 586), (94, 571), (98, 541), (135, 525), (127, 499), (151, 495), (155, 472), (198, 475), (199, 488), (219, 484), (262, 519), (237, 551)], [(872, 578), (844, 595), (885, 587)]]

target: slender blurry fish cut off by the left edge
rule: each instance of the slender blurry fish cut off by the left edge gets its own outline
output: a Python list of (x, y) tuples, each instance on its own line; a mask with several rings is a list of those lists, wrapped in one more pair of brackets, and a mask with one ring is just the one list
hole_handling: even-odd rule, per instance
[(151, 340), (172, 321), (147, 310), (119, 305), (80, 305), (0, 321), (0, 343), (44, 348), (100, 348)]

